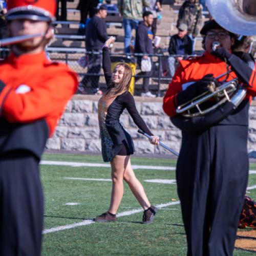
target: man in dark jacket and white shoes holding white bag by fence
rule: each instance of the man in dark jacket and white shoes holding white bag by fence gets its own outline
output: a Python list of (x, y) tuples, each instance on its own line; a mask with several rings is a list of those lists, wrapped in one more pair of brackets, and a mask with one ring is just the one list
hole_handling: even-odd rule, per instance
[(149, 91), (150, 86), (150, 75), (151, 68), (149, 71), (143, 71), (142, 61), (146, 62), (148, 66), (152, 67), (152, 60), (148, 54), (153, 54), (153, 33), (151, 31), (151, 25), (153, 23), (154, 16), (152, 12), (145, 11), (143, 12), (143, 21), (140, 22), (138, 29), (136, 30), (136, 38), (135, 38), (135, 53), (142, 53), (143, 56), (138, 57), (138, 64), (141, 67), (141, 75), (147, 76), (143, 78), (143, 92), (141, 96), (143, 97), (156, 97), (156, 95), (152, 94)]

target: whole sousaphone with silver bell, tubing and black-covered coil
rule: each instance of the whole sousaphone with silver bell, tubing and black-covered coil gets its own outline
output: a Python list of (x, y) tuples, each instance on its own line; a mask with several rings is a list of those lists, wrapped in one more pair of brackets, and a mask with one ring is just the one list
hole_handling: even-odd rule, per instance
[[(227, 31), (245, 36), (256, 35), (256, 0), (206, 0), (206, 6), (216, 22)], [(246, 92), (238, 79), (233, 79), (178, 106), (176, 112), (181, 115), (170, 119), (182, 131), (204, 131), (231, 114), (243, 101)], [(201, 109), (201, 104), (212, 98), (218, 98), (216, 104)]]

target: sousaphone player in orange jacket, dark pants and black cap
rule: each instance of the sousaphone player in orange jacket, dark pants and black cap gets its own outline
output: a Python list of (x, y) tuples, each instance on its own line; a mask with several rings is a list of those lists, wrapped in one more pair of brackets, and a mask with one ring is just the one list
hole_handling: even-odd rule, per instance
[[(237, 108), (227, 102), (212, 111), (214, 120), (196, 129), (181, 125), (176, 173), (187, 255), (232, 255), (248, 181), (248, 110), (251, 97), (256, 95), (256, 79), (247, 63), (232, 54), (236, 35), (215, 20), (206, 23), (201, 34), (205, 52), (180, 62), (164, 96), (163, 110), (175, 121), (180, 117), (177, 106), (207, 91), (209, 82), (218, 85), (223, 77), (219, 82), (215, 77), (227, 72), (227, 64), (231, 71), (226, 81), (238, 77), (247, 89), (247, 96)], [(220, 47), (212, 51), (216, 41)]]

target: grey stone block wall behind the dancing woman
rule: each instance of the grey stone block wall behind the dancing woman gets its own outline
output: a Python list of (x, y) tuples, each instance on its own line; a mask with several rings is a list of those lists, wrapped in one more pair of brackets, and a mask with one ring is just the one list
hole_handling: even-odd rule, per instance
[[(95, 152), (101, 151), (98, 127), (99, 96), (75, 95), (68, 103), (66, 111), (59, 120), (54, 136), (48, 140), (48, 150)], [(181, 132), (170, 122), (162, 110), (162, 98), (135, 97), (138, 112), (153, 134), (161, 141), (179, 152)], [(124, 111), (121, 123), (134, 139), (137, 154), (169, 154), (161, 146), (153, 146), (137, 132), (138, 127), (131, 116)], [(256, 149), (256, 104), (250, 107), (248, 152)]]

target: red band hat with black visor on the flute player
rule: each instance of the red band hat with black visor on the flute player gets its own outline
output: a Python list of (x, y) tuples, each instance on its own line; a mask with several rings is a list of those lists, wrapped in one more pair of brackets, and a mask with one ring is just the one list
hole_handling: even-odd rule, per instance
[(32, 19), (52, 22), (55, 20), (55, 0), (8, 0), (6, 20)]

